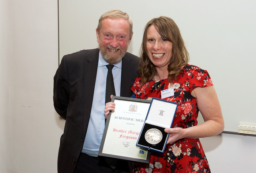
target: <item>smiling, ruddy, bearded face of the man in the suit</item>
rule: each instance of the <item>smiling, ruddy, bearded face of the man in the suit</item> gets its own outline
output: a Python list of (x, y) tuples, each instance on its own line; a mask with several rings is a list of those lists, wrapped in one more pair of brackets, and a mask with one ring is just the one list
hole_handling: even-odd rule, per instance
[(102, 20), (102, 27), (96, 29), (97, 42), (103, 59), (110, 64), (121, 61), (131, 42), (129, 21), (123, 18)]

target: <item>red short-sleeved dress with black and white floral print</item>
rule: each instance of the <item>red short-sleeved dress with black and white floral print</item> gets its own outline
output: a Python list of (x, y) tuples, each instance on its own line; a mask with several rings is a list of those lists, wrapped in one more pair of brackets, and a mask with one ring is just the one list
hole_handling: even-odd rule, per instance
[[(188, 128), (197, 125), (197, 99), (191, 95), (196, 87), (212, 86), (210, 75), (206, 70), (187, 64), (181, 70), (173, 85), (168, 79), (150, 80), (140, 87), (138, 77), (132, 86), (136, 98), (161, 99), (161, 91), (174, 88), (174, 96), (164, 100), (178, 103), (178, 108), (172, 128)], [(210, 173), (208, 161), (199, 139), (183, 138), (172, 144), (167, 144), (165, 152), (151, 152), (150, 164), (135, 163), (134, 173)]]

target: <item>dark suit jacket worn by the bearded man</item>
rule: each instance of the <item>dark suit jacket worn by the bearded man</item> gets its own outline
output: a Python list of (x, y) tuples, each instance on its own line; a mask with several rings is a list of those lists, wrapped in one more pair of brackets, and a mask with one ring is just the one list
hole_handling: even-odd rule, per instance
[[(66, 120), (60, 139), (58, 173), (73, 173), (90, 119), (99, 49), (65, 55), (54, 76), (54, 108)], [(138, 57), (130, 53), (122, 59), (121, 96), (131, 97)], [(103, 111), (103, 110), (102, 110)]]

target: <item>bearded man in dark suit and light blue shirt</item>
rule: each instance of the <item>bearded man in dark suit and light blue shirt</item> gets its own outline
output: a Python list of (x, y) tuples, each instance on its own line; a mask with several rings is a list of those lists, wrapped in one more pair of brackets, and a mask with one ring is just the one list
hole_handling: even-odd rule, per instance
[(114, 65), (117, 96), (131, 97), (131, 86), (138, 76), (138, 57), (126, 52), (132, 34), (127, 13), (108, 11), (96, 29), (99, 49), (82, 50), (61, 60), (54, 76), (53, 96), (57, 113), (66, 120), (58, 173), (129, 172), (127, 162), (119, 160), (112, 169), (97, 156), (105, 127), (106, 65)]

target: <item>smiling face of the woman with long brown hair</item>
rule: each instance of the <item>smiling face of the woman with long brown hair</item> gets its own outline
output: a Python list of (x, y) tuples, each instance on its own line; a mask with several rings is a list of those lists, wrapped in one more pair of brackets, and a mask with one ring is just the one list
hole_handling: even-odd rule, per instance
[(154, 25), (147, 31), (147, 55), (155, 67), (167, 70), (172, 57), (172, 42), (161, 38)]

